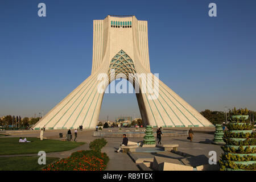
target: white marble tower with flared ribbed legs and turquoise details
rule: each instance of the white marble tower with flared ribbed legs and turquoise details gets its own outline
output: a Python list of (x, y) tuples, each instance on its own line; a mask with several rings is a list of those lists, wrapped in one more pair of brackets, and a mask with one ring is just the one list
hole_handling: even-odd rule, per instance
[[(161, 60), (158, 60), (161, 61)], [(110, 74), (114, 69), (114, 75)], [(102, 80), (100, 73), (109, 75), (102, 85), (105, 90), (118, 73), (129, 78), (130, 73), (152, 75), (148, 56), (147, 21), (135, 16), (108, 15), (104, 20), (93, 20), (92, 74), (75, 90), (57, 104), (36, 125), (35, 130), (95, 128), (98, 123), (104, 92), (98, 91)], [(146, 74), (145, 74), (146, 73)], [(120, 74), (119, 74), (120, 75)], [(134, 77), (134, 80), (137, 77)], [(154, 84), (156, 83), (155, 77)], [(135, 81), (131, 79), (135, 86)], [(137, 78), (138, 80), (138, 78)], [(139, 78), (145, 82), (146, 77)], [(137, 84), (141, 85), (141, 84)], [(152, 84), (151, 84), (152, 85)], [(185, 102), (162, 81), (158, 81), (158, 92), (152, 86), (136, 93), (139, 110), (146, 125), (153, 127), (204, 127), (213, 126), (191, 105)], [(146, 91), (146, 92), (145, 92)]]

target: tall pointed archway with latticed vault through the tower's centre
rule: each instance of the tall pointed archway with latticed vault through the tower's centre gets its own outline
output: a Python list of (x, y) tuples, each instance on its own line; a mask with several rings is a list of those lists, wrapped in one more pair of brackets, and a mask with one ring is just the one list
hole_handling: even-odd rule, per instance
[(143, 98), (140, 92), (134, 90), (134, 79), (131, 75), (135, 73), (133, 60), (121, 49), (110, 61), (109, 85), (105, 89), (104, 99), (102, 98), (99, 121), (116, 121), (117, 117), (139, 117), (142, 118), (143, 125), (147, 123)]

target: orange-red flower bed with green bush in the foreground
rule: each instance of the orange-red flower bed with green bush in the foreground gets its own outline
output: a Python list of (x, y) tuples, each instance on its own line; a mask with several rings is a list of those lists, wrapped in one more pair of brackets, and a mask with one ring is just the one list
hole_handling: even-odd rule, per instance
[(43, 171), (103, 171), (109, 157), (100, 150), (106, 143), (105, 139), (96, 139), (90, 142), (90, 148), (93, 150), (73, 152), (69, 158), (49, 164)]

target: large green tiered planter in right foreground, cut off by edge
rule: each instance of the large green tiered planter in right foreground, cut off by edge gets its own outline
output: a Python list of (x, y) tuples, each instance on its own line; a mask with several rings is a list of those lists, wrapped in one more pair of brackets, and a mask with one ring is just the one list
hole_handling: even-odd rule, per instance
[(256, 135), (246, 118), (233, 115), (227, 125), (229, 130), (224, 134), (226, 145), (222, 147), (221, 170), (256, 170)]

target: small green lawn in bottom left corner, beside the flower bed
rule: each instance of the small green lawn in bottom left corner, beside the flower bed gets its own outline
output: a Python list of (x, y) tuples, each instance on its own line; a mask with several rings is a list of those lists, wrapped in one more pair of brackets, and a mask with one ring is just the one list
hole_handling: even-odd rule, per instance
[(46, 158), (46, 165), (38, 164), (39, 156), (19, 156), (12, 158), (0, 158), (0, 171), (35, 171), (42, 170), (47, 164), (51, 164), (59, 158)]

